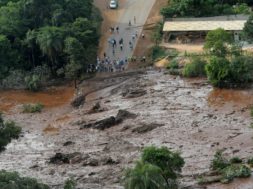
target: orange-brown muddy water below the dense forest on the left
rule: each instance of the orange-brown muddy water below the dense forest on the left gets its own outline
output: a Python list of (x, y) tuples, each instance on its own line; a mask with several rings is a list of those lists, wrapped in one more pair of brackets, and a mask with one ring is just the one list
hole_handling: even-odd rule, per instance
[(62, 106), (73, 97), (73, 87), (52, 87), (41, 92), (27, 90), (0, 91), (0, 112), (8, 112), (19, 104), (42, 103), (46, 108)]

